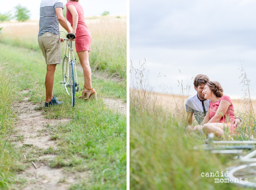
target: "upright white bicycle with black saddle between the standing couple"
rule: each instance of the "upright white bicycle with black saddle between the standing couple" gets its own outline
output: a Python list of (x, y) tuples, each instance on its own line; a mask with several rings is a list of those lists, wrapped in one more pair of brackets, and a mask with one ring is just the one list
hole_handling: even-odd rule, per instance
[[(74, 55), (74, 50), (72, 48), (72, 41), (76, 38), (76, 35), (73, 33), (66, 34), (66, 38), (64, 40), (67, 41), (68, 46), (68, 55), (66, 55), (63, 59), (62, 64), (62, 75), (63, 81), (60, 81), (60, 84), (64, 85), (65, 91), (69, 96), (71, 96), (71, 106), (74, 107), (75, 105), (75, 94), (79, 90), (83, 90), (79, 86), (79, 82), (77, 80), (76, 75), (76, 58)], [(70, 94), (68, 93), (68, 88), (70, 88)]]

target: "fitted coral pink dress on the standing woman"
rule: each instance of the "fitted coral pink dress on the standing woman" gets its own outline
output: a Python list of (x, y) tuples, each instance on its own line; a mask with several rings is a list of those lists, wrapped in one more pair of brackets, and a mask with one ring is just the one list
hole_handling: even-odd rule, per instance
[(75, 40), (76, 52), (80, 52), (80, 51), (84, 51), (84, 50), (90, 51), (91, 43), (92, 43), (92, 34), (85, 24), (84, 9), (82, 8), (82, 6), (79, 2), (76, 2), (76, 1), (67, 2), (66, 18), (67, 18), (68, 22), (70, 22), (72, 27), (73, 27), (73, 20), (72, 20), (72, 14), (68, 10), (69, 5), (73, 5), (76, 8), (76, 11), (78, 13), (78, 24), (77, 24), (77, 28), (76, 28), (76, 40)]

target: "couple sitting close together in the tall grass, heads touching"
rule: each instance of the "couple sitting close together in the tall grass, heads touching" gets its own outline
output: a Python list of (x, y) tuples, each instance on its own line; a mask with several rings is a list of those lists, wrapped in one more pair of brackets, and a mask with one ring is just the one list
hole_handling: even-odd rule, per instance
[[(234, 106), (229, 96), (223, 94), (220, 83), (199, 74), (194, 78), (194, 88), (197, 94), (186, 100), (186, 122), (189, 125), (186, 131), (214, 133), (218, 137), (222, 137), (226, 129), (233, 133), (242, 120), (235, 116)], [(192, 126), (193, 114), (197, 126)]]

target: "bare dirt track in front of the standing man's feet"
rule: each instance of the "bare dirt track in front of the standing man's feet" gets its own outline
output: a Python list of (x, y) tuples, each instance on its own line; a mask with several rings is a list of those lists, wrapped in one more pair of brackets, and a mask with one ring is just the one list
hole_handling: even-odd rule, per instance
[[(26, 92), (26, 91), (24, 91)], [(57, 124), (64, 124), (69, 122), (68, 119), (49, 120), (46, 119), (41, 111), (36, 111), (35, 107), (28, 102), (28, 97), (24, 98), (22, 102), (15, 104), (14, 110), (19, 114), (18, 122), (16, 124), (15, 135), (11, 139), (17, 146), (28, 146), (37, 150), (46, 150), (48, 148), (57, 149), (54, 140), (51, 140), (51, 131), (49, 127), (54, 128)], [(53, 130), (54, 131), (54, 130)], [(88, 174), (77, 172), (75, 175), (67, 173), (63, 168), (50, 168), (48, 164), (55, 157), (54, 154), (44, 154), (42, 156), (34, 156), (32, 158), (35, 166), (29, 161), (28, 157), (30, 148), (26, 149), (24, 159), (30, 165), (25, 171), (18, 174), (19, 178), (27, 180), (26, 186), (22, 190), (66, 190), (70, 184), (76, 182), (81, 178), (88, 178)], [(42, 151), (41, 151), (42, 152)]]

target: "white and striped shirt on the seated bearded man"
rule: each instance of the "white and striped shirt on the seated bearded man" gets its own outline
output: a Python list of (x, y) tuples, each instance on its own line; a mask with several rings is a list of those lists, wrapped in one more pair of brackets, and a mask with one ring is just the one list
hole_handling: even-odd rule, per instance
[[(185, 106), (187, 112), (192, 112), (196, 118), (198, 124), (201, 124), (204, 120), (204, 116), (208, 111), (211, 100), (201, 101), (197, 94), (194, 96), (188, 97), (186, 100)], [(203, 107), (204, 104), (204, 107)]]

